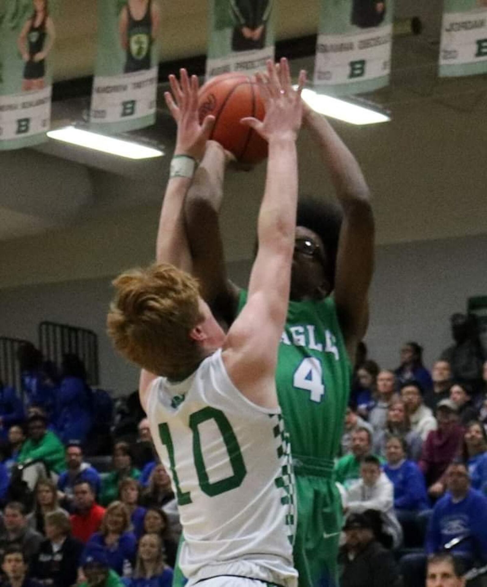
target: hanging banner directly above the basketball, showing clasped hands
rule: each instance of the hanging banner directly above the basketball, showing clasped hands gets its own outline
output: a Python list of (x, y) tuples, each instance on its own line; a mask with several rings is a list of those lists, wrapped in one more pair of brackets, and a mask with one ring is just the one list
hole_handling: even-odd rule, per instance
[(274, 60), (274, 0), (209, 0), (206, 79), (255, 73)]

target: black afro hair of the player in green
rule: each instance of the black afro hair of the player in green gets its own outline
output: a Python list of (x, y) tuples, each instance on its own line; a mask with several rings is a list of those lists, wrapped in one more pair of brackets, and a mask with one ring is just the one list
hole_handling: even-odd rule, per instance
[(342, 220), (342, 211), (336, 204), (309, 196), (298, 202), (296, 225), (309, 228), (321, 239), (328, 261), (327, 277), (332, 288), (335, 287), (336, 255)]

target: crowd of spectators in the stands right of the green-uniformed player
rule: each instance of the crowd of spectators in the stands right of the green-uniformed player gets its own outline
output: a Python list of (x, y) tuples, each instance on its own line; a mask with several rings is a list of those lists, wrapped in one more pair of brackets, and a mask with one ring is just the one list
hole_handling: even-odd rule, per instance
[(335, 464), (342, 587), (425, 585), (433, 555), (452, 577), (487, 564), (487, 360), (471, 318), (451, 325), (431, 373), (416, 342), (396, 369), (355, 368)]

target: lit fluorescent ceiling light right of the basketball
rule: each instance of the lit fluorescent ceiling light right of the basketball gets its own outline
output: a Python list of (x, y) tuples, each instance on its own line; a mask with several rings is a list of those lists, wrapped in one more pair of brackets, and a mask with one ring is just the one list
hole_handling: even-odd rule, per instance
[(351, 124), (376, 124), (390, 120), (390, 116), (383, 112), (325, 94), (318, 94), (308, 88), (302, 90), (302, 99), (316, 112)]

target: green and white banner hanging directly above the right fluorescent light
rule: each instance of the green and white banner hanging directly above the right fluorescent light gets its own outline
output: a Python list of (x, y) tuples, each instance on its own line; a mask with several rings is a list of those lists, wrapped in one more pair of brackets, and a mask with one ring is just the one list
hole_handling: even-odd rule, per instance
[(394, 0), (321, 0), (314, 85), (343, 96), (387, 86)]

